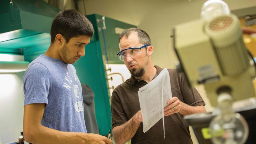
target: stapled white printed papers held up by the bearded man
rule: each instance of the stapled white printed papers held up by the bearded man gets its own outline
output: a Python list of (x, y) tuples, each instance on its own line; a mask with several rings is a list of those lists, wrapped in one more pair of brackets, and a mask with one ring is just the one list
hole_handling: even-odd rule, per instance
[(164, 68), (156, 78), (141, 87), (138, 94), (143, 132), (147, 132), (161, 118), (163, 118), (164, 128), (164, 107), (167, 106), (167, 101), (172, 98), (170, 76), (167, 69)]

